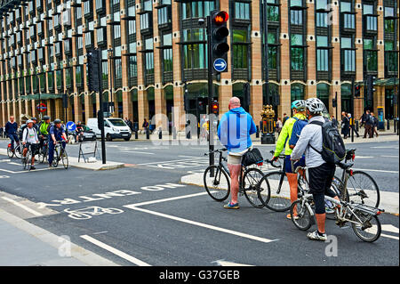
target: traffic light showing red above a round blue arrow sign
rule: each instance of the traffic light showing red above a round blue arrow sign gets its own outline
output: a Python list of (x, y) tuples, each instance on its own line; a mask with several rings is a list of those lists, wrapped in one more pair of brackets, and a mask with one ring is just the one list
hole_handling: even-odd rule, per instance
[(217, 72), (228, 72), (228, 12), (214, 11), (211, 14), (212, 64)]

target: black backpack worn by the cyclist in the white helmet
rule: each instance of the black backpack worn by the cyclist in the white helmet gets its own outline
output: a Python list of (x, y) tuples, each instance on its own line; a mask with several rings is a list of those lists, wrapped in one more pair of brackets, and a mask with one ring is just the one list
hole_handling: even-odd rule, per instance
[(339, 164), (346, 157), (346, 147), (338, 128), (329, 120), (325, 122), (312, 121), (309, 124), (321, 126), (323, 134), (323, 150), (316, 150), (311, 145), (310, 147), (316, 150), (326, 163)]

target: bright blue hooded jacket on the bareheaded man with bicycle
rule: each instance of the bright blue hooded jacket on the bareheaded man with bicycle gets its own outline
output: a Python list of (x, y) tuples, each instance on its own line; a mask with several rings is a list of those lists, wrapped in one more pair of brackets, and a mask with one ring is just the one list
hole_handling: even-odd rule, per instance
[(218, 137), (228, 152), (241, 152), (251, 147), (250, 135), (256, 132), (252, 116), (241, 107), (229, 110), (220, 118)]

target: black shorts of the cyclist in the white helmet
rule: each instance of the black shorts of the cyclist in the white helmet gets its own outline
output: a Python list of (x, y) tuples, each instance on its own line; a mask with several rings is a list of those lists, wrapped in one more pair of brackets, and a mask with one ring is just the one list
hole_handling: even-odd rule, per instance
[[(313, 194), (324, 194), (332, 196), (330, 190), (332, 179), (335, 174), (336, 166), (334, 164), (324, 163), (321, 166), (308, 168), (309, 190)], [(332, 197), (334, 197), (334, 194)]]

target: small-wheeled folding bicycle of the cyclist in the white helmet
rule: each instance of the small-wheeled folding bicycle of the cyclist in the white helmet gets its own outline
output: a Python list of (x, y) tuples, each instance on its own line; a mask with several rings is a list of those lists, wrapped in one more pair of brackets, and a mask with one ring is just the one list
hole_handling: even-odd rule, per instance
[[(305, 182), (307, 183), (307, 180)], [(378, 215), (385, 210), (339, 199), (325, 196), (325, 200), (335, 205), (335, 219), (338, 226), (343, 227), (346, 223), (351, 223), (356, 236), (366, 242), (373, 242), (380, 238), (381, 226)], [(299, 199), (291, 206), (292, 222), (301, 231), (307, 231), (315, 223), (313, 204), (313, 195), (301, 188)]]

